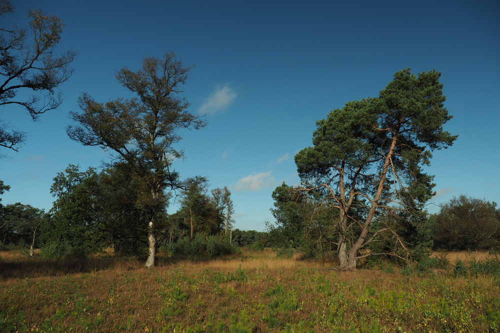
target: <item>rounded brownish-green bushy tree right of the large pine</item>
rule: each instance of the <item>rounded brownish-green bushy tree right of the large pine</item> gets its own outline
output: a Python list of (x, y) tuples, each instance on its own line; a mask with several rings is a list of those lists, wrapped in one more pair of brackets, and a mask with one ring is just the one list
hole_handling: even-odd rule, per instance
[(495, 202), (453, 197), (432, 222), (434, 246), (439, 249), (494, 249), (500, 241), (500, 209)]

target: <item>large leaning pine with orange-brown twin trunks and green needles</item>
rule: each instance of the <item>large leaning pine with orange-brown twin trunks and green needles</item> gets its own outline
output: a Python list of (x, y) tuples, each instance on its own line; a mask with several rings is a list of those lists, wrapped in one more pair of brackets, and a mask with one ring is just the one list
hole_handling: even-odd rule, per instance
[(303, 184), (312, 184), (297, 191), (323, 191), (324, 200), (339, 211), (341, 268), (355, 269), (357, 259), (370, 255), (358, 256), (359, 250), (384, 233), (407, 252), (377, 217), (381, 210), (392, 216), (401, 210), (421, 214), (433, 194), (433, 176), (422, 165), (429, 165), (430, 151), (456, 139), (442, 129), (451, 116), (439, 77), (435, 70), (418, 76), (409, 68), (396, 72), (377, 98), (349, 102), (317, 121), (313, 146), (295, 155)]

